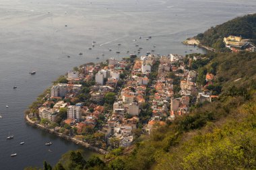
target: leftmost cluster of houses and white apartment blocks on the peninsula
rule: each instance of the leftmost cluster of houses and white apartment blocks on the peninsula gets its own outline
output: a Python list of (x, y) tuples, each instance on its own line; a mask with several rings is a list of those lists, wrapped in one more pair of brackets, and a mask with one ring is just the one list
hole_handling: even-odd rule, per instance
[[(67, 110), (67, 119), (63, 120), (72, 128), (76, 128), (76, 134), (83, 134), (88, 128), (94, 129), (100, 115), (105, 118), (108, 114), (104, 113), (104, 96), (108, 92), (113, 92), (117, 87), (119, 75), (123, 73), (129, 62), (126, 60), (116, 60), (110, 58), (108, 65), (84, 65), (75, 71), (67, 73), (68, 83), (57, 83), (51, 87), (48, 99), (40, 108), (38, 115), (40, 119), (56, 122), (61, 108)], [(89, 105), (84, 102), (76, 102), (77, 95), (82, 92), (82, 82), (95, 82), (90, 86)], [(73, 101), (73, 102), (70, 102)]]

